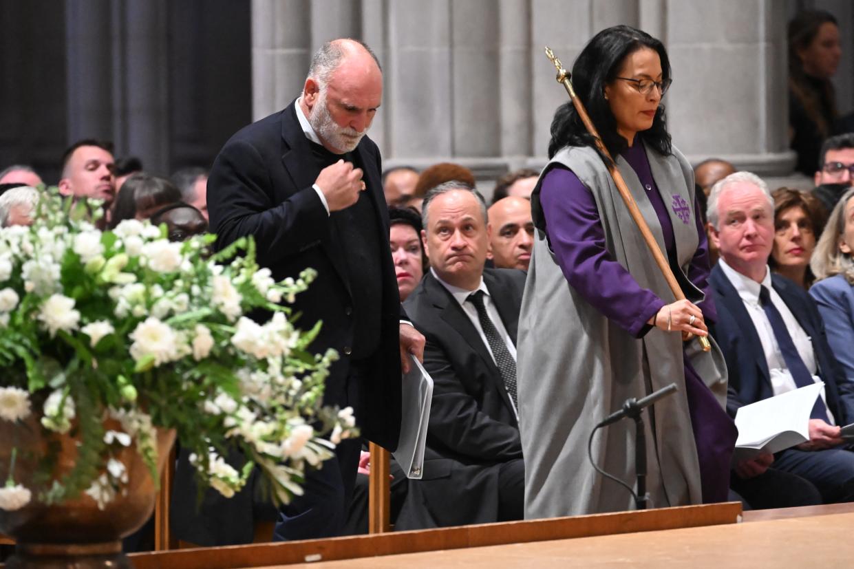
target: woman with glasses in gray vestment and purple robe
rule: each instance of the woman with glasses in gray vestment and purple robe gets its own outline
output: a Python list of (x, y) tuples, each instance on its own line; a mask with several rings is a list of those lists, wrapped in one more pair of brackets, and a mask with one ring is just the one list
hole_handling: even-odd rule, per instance
[[(676, 301), (605, 157), (564, 104), (531, 197), (538, 232), (519, 318), (525, 517), (634, 507), (590, 465), (588, 437), (629, 397), (671, 382), (678, 392), (645, 412), (651, 506), (726, 500), (736, 432), (720, 350), (702, 352), (693, 338), (707, 335), (715, 308), (704, 301), (709, 260), (693, 171), (664, 124), (667, 52), (645, 32), (611, 27), (582, 50), (572, 81), (689, 300)], [(593, 459), (634, 486), (634, 443), (632, 421), (610, 425), (594, 437)]]

